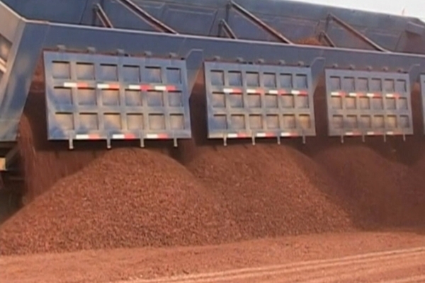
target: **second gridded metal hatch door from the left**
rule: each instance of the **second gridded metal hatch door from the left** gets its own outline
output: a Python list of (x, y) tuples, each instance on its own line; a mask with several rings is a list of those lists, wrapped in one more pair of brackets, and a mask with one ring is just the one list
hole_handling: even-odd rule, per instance
[(314, 136), (311, 70), (205, 62), (209, 138)]

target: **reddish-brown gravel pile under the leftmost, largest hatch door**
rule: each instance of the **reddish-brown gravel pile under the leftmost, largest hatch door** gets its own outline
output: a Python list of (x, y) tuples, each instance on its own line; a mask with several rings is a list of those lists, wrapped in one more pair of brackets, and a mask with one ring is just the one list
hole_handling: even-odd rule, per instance
[(115, 149), (60, 180), (0, 229), (0, 254), (186, 246), (239, 238), (191, 173), (163, 154)]

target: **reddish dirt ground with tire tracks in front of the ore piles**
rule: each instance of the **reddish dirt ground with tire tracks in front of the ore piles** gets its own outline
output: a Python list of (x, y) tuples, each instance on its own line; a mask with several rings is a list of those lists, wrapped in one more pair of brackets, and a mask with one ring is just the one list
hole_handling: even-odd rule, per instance
[(325, 233), (220, 246), (3, 256), (0, 270), (8, 283), (424, 282), (424, 244), (425, 231)]

